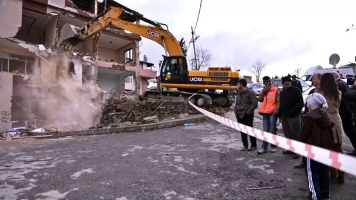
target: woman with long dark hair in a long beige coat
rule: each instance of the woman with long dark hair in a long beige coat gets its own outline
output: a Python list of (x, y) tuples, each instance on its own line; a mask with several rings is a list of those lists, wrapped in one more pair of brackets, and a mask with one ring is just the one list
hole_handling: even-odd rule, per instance
[[(339, 114), (341, 102), (341, 91), (337, 89), (337, 83), (332, 73), (324, 73), (321, 76), (320, 87), (315, 89), (314, 93), (324, 96), (328, 102), (328, 113), (333, 122), (334, 151), (342, 152), (342, 143), (344, 143), (344, 129)], [(345, 173), (334, 168), (330, 168), (331, 183), (345, 183)]]

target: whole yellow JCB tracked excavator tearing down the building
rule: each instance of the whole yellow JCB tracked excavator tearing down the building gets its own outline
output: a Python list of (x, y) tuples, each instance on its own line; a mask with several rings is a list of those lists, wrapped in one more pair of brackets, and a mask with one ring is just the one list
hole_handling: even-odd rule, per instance
[[(240, 78), (239, 72), (232, 71), (230, 67), (208, 67), (207, 71), (188, 71), (187, 59), (183, 55), (180, 44), (168, 31), (166, 24), (154, 22), (121, 4), (117, 5), (119, 6), (109, 7), (83, 27), (64, 24), (59, 44), (67, 48), (75, 46), (109, 26), (127, 30), (163, 46), (166, 56), (163, 55), (159, 68), (159, 81), (162, 87), (177, 89), (146, 91), (144, 94), (146, 98), (162, 98), (163, 96), (169, 99), (182, 97), (188, 99), (189, 96), (197, 93), (190, 101), (199, 107), (212, 105), (230, 107), (233, 104), (230, 91), (236, 90)], [(137, 19), (150, 25), (134, 23)], [(167, 29), (162, 26), (166, 26)], [(216, 93), (216, 90), (223, 90), (223, 93)]]

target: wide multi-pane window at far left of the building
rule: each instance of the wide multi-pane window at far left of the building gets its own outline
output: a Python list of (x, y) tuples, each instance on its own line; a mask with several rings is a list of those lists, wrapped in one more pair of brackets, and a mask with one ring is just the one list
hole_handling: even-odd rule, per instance
[(0, 71), (33, 74), (35, 57), (9, 54), (0, 51)]

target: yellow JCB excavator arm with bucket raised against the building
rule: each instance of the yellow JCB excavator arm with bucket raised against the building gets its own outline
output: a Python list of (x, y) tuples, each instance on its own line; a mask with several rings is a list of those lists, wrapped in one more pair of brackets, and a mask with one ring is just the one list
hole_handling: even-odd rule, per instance
[[(124, 6), (123, 8), (110, 7), (106, 12), (94, 18), (82, 28), (78, 28), (70, 24), (64, 24), (61, 30), (59, 44), (65, 46), (75, 46), (100, 31), (105, 30), (105, 28), (109, 25), (112, 25), (156, 41), (158, 44), (163, 46), (166, 54), (168, 53), (169, 56), (183, 55), (177, 39), (168, 30), (163, 29), (161, 24), (149, 20), (153, 26), (147, 26), (144, 24), (134, 24), (120, 18), (123, 14), (136, 15), (136, 12), (134, 12), (135, 11), (127, 9)], [(140, 18), (141, 16), (137, 17)]]

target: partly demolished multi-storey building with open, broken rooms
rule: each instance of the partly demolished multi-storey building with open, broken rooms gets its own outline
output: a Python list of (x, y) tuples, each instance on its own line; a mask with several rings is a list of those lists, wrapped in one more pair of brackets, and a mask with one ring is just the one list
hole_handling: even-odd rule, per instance
[[(108, 0), (107, 6), (111, 5), (115, 6), (115, 1)], [(33, 109), (26, 113), (19, 102), (36, 93), (36, 84), (56, 83), (59, 69), (53, 62), (58, 60), (68, 65), (75, 81), (72, 85), (97, 83), (108, 93), (127, 90), (135, 91), (136, 96), (145, 92), (147, 80), (156, 78), (156, 71), (140, 65), (139, 35), (107, 28), (75, 46), (65, 59), (59, 58), (58, 38), (63, 24), (80, 27), (103, 11), (104, 4), (97, 0), (0, 2), (0, 19), (6, 19), (0, 20), (1, 27), (6, 27), (0, 29), (0, 132), (40, 118)]]

